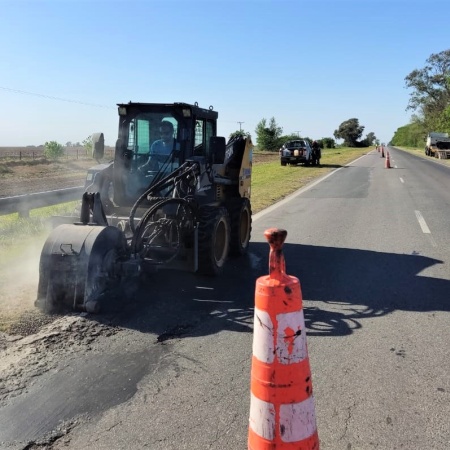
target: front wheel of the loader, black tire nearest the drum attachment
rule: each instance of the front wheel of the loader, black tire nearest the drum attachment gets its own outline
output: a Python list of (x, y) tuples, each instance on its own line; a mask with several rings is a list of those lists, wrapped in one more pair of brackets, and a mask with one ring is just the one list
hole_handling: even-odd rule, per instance
[(226, 208), (202, 206), (198, 225), (198, 272), (219, 275), (230, 248), (230, 218)]

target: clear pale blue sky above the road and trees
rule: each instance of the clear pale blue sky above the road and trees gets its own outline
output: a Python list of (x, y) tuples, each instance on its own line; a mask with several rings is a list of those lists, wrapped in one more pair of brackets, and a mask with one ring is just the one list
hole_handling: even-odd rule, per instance
[[(212, 105), (218, 131), (275, 117), (389, 141), (405, 77), (450, 47), (448, 0), (0, 0), (0, 147), (117, 137), (116, 103)], [(243, 122), (241, 125), (238, 122)]]

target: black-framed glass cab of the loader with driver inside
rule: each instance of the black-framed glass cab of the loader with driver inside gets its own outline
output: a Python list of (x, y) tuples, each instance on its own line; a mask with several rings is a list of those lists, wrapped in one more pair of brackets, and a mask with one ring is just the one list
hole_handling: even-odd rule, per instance
[[(211, 160), (210, 142), (217, 134), (218, 117), (212, 107), (131, 102), (118, 107), (113, 175), (116, 205), (134, 204), (146, 189), (188, 159)], [(172, 134), (169, 138), (161, 134), (167, 129)]]

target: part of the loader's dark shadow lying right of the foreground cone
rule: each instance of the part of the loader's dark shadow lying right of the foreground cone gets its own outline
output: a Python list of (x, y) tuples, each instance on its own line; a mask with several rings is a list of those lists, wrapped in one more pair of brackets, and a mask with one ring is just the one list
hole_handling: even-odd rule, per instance
[[(363, 319), (396, 310), (450, 311), (450, 281), (420, 275), (442, 261), (292, 244), (284, 253), (287, 271), (300, 279), (309, 336), (348, 335), (363, 326)], [(311, 306), (318, 301), (325, 306)]]

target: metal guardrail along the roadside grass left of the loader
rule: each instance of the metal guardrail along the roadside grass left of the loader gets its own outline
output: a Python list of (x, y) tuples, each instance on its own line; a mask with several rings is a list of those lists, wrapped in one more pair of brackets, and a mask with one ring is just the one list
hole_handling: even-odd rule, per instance
[(19, 217), (29, 217), (32, 209), (80, 200), (83, 192), (84, 186), (77, 186), (54, 191), (3, 197), (0, 198), (0, 215), (4, 216), (18, 212)]

